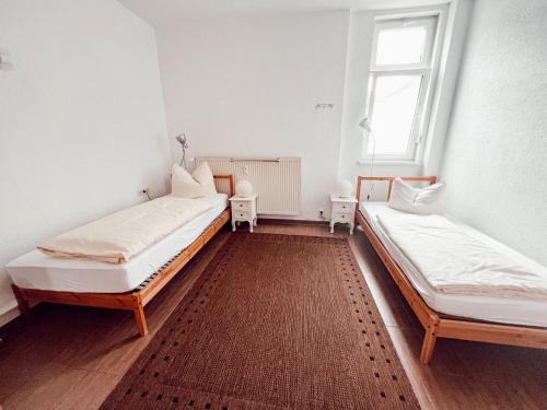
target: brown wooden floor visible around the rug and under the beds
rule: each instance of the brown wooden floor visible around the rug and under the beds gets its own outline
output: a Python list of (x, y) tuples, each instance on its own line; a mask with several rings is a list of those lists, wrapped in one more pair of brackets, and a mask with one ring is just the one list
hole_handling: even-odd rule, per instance
[[(264, 224), (255, 232), (329, 235), (327, 226)], [(351, 247), (424, 409), (546, 409), (547, 351), (440, 340), (419, 361), (422, 330), (364, 235), (337, 227)], [(136, 336), (132, 313), (40, 305), (32, 324), (0, 329), (0, 403), (4, 409), (95, 409), (137, 359), (216, 249), (221, 232), (147, 306), (150, 335)]]

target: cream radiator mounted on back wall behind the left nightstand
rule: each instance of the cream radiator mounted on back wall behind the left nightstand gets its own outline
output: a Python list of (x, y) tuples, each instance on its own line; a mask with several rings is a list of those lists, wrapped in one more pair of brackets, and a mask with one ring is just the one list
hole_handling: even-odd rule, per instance
[(269, 215), (300, 213), (300, 159), (196, 157), (216, 175), (232, 174), (235, 183), (247, 179), (258, 194), (257, 212)]

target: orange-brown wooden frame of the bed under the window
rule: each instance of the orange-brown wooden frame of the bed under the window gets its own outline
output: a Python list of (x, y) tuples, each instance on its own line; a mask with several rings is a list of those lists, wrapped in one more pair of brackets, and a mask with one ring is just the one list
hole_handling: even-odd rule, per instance
[[(362, 181), (388, 183), (387, 199), (389, 199), (394, 179), (395, 177), (358, 176), (358, 203), (361, 203)], [(401, 179), (429, 183), (430, 185), (437, 181), (437, 177), (434, 176), (404, 177)], [(423, 364), (428, 364), (431, 361), (438, 338), (547, 349), (547, 328), (503, 325), (490, 321), (450, 317), (433, 311), (427, 305), (418, 291), (414, 289), (403, 270), (398, 267), (397, 262), (392, 258), (379, 236), (372, 230), (359, 207), (356, 212), (356, 220), (363, 229), (364, 234), (384, 262), (387, 271), (399, 286), (400, 292), (409, 303), (420, 324), (426, 329), (426, 336), (420, 355), (420, 360)]]

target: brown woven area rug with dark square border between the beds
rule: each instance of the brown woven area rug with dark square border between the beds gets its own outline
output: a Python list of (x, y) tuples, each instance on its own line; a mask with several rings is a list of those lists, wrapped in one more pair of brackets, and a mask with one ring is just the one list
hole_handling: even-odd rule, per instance
[(345, 238), (231, 234), (102, 408), (418, 408)]

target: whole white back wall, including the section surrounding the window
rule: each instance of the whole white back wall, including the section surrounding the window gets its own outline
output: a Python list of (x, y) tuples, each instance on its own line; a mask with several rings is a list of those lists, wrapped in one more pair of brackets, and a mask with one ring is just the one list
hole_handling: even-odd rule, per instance
[[(453, 0), (441, 79), (444, 138), (470, 0)], [(401, 9), (404, 10), (404, 9)], [(399, 11), (401, 11), (399, 10)], [(303, 212), (315, 220), (338, 178), (369, 175), (358, 164), (373, 12), (271, 15), (232, 21), (186, 21), (159, 26), (158, 43), (170, 141), (187, 132), (194, 156), (301, 156)], [(457, 31), (455, 35), (453, 31)], [(315, 104), (334, 103), (317, 113)], [(443, 128), (444, 127), (444, 128)], [(428, 154), (439, 162), (442, 141)], [(429, 159), (426, 159), (429, 161)], [(375, 175), (419, 175), (421, 164), (376, 165)], [(435, 169), (437, 171), (437, 169)], [(382, 195), (382, 187), (376, 194)]]

